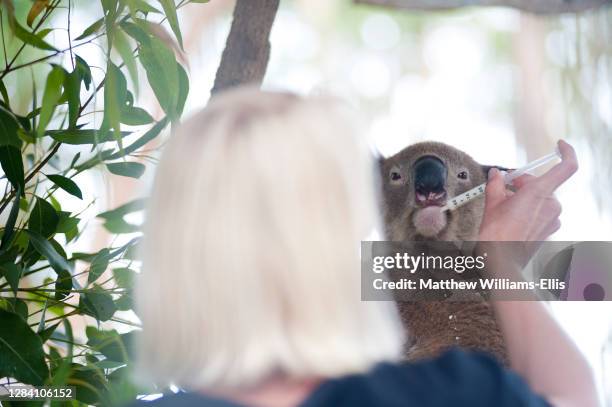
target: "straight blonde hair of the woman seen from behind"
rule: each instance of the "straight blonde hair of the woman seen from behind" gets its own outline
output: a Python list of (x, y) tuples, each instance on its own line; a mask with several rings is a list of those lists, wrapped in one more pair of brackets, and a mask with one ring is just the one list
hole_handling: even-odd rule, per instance
[(360, 300), (378, 215), (357, 123), (332, 100), (244, 88), (178, 129), (147, 212), (141, 375), (233, 388), (399, 358), (394, 305)]

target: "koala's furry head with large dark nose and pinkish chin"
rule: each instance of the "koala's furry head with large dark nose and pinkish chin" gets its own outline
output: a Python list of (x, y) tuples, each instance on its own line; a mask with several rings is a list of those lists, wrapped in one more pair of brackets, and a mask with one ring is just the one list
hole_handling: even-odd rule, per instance
[(493, 166), (449, 145), (424, 142), (382, 160), (380, 167), (389, 240), (478, 239), (483, 199), (445, 213), (431, 207), (482, 184)]

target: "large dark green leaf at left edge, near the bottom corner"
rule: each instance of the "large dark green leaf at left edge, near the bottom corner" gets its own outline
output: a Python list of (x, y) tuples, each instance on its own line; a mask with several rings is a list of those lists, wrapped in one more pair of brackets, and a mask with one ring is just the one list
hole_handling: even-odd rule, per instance
[(0, 310), (0, 377), (42, 386), (49, 375), (40, 337), (19, 315)]

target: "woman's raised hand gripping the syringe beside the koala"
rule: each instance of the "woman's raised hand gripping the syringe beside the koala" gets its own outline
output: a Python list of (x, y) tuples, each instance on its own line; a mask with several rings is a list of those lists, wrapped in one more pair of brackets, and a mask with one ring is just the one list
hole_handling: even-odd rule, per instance
[(561, 204), (553, 193), (578, 170), (578, 161), (572, 146), (562, 140), (558, 145), (561, 162), (540, 177), (515, 179), (514, 193), (506, 189), (499, 170), (489, 171), (481, 241), (539, 241), (559, 229)]

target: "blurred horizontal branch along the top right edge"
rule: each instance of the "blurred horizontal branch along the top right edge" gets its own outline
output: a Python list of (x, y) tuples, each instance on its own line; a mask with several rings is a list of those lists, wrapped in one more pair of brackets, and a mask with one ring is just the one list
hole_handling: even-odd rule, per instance
[(409, 10), (446, 10), (465, 6), (501, 6), (537, 14), (577, 13), (612, 0), (354, 0), (355, 3)]

